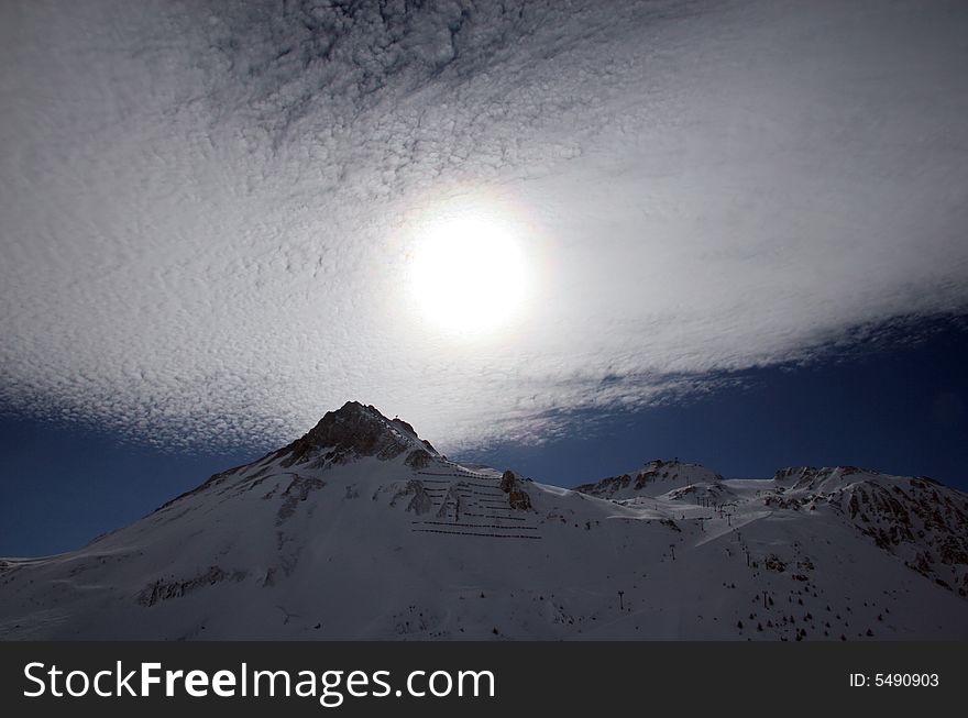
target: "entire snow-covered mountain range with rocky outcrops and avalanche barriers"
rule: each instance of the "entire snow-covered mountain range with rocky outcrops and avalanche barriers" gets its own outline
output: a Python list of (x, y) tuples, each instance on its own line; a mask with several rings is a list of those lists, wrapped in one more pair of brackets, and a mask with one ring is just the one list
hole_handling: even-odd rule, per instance
[(968, 496), (652, 462), (576, 490), (350, 402), (84, 549), (0, 561), (6, 639), (968, 639)]

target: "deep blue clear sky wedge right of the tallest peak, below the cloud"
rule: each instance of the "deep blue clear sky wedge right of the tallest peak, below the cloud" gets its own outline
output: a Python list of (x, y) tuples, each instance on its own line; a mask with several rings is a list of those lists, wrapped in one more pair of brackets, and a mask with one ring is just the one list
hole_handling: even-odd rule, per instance
[(935, 331), (915, 345), (861, 345), (837, 361), (740, 372), (739, 384), (702, 398), (590, 413), (586, 433), (480, 456), (563, 486), (678, 456), (734, 478), (855, 465), (968, 490), (968, 331), (948, 322)]

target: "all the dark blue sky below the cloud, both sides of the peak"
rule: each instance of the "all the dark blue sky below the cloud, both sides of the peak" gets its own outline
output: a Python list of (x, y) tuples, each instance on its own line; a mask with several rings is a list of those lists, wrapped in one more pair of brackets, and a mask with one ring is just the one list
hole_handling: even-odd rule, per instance
[[(547, 444), (502, 443), (463, 457), (562, 486), (678, 456), (727, 477), (851, 464), (968, 490), (968, 331), (949, 321), (920, 329), (931, 333), (915, 344), (901, 335), (837, 361), (750, 369), (702, 398), (635, 413), (584, 412)], [(78, 548), (275, 448), (155, 449), (8, 416), (0, 421), (0, 555)]]

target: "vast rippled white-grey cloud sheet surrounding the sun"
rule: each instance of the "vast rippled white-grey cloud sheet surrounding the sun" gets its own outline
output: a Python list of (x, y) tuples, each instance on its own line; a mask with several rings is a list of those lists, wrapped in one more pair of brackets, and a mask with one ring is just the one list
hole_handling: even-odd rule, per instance
[[(272, 444), (359, 398), (535, 438), (968, 303), (960, 2), (0, 13), (8, 410)], [(453, 201), (524, 228), (487, 340), (408, 294)]]

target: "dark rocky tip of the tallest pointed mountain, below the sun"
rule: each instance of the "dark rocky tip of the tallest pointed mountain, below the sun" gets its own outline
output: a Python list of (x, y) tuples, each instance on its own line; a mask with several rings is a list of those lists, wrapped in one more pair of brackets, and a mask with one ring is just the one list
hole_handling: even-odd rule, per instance
[(387, 461), (413, 450), (437, 454), (430, 442), (421, 440), (403, 419), (387, 419), (373, 405), (346, 401), (336, 411), (327, 411), (282, 453), (288, 454), (284, 465), (292, 466), (309, 461), (345, 463), (359, 456)]

